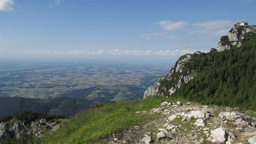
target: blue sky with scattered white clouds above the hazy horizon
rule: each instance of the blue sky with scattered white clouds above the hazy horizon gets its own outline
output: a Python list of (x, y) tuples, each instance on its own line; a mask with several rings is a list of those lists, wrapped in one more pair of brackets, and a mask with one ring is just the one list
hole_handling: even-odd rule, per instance
[(170, 55), (217, 47), (256, 1), (0, 0), (0, 55)]

